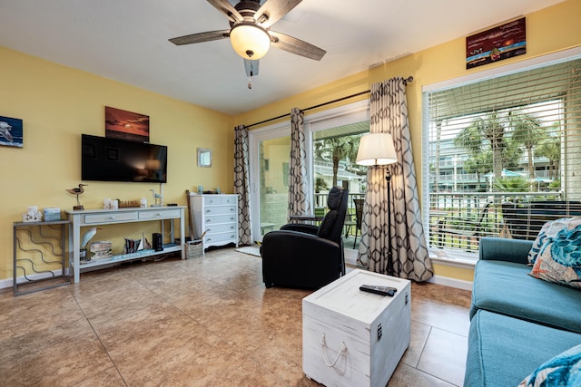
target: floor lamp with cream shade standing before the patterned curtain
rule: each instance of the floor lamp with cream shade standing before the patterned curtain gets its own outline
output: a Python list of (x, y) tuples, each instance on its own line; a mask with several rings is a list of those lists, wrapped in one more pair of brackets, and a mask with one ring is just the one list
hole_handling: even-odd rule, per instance
[[(398, 161), (398, 155), (393, 147), (393, 139), (389, 133), (369, 133), (361, 136), (357, 160), (359, 165), (367, 165), (379, 168)], [(388, 257), (386, 272), (388, 276), (394, 275), (393, 254), (391, 252), (391, 172), (386, 167), (385, 179), (388, 182)]]

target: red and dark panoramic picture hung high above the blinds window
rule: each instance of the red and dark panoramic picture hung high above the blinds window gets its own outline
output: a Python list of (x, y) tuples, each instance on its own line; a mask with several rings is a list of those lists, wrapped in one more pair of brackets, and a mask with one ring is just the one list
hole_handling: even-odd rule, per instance
[(466, 38), (466, 69), (527, 53), (527, 23), (521, 17)]

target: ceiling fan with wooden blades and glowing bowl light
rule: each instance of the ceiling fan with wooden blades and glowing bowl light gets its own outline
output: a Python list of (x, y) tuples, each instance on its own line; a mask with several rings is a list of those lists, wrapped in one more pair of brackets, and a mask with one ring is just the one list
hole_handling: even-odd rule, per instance
[(196, 44), (230, 37), (234, 51), (245, 60), (261, 59), (272, 45), (289, 53), (320, 61), (327, 53), (325, 50), (295, 37), (271, 31), (271, 25), (291, 12), (301, 1), (266, 0), (261, 5), (260, 0), (241, 0), (237, 5), (231, 5), (228, 0), (208, 0), (208, 3), (228, 18), (231, 28), (175, 37), (170, 42), (176, 45)]

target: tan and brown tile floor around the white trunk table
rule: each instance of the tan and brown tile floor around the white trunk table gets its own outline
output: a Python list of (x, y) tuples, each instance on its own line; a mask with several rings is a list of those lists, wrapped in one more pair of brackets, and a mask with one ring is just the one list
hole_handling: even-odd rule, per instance
[[(316, 386), (301, 366), (301, 299), (265, 289), (261, 259), (204, 258), (85, 273), (81, 283), (0, 292), (6, 386)], [(393, 386), (461, 385), (470, 292), (412, 284), (412, 338)]]

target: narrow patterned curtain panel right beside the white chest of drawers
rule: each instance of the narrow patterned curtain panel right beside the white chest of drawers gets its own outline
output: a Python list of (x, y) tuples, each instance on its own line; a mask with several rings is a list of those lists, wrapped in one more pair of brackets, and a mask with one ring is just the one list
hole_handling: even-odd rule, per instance
[(248, 168), (248, 129), (234, 128), (234, 193), (238, 194), (238, 243), (252, 244), (251, 189)]

